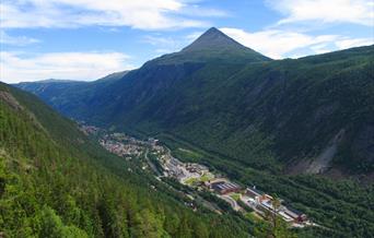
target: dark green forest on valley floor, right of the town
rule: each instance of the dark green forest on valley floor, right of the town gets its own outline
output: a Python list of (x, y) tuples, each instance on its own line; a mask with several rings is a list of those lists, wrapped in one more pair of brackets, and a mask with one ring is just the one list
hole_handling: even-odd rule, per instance
[(299, 230), (300, 237), (373, 237), (374, 234), (374, 186), (363, 186), (355, 180), (336, 181), (327, 177), (311, 175), (284, 176), (248, 168), (230, 157), (208, 152), (190, 142), (170, 134), (160, 139), (180, 159), (194, 160), (225, 172), (235, 181), (256, 186), (258, 189), (276, 194), (308, 217), (322, 225), (320, 229)]

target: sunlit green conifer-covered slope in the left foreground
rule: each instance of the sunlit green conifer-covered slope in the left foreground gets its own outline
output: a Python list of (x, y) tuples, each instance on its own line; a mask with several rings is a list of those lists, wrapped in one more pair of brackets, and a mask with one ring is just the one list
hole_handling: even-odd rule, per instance
[[(131, 170), (131, 169), (130, 169)], [(247, 237), (192, 212), (35, 96), (0, 83), (1, 237)]]

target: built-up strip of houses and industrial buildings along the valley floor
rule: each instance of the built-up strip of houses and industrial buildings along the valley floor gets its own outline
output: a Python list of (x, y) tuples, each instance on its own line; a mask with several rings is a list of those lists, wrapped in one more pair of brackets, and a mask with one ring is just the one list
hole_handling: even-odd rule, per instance
[[(83, 126), (81, 127), (81, 130), (85, 133), (94, 134), (97, 133), (100, 129), (91, 126)], [(204, 189), (211, 191), (224, 199), (236, 194), (245, 205), (252, 207), (261, 216), (265, 216), (267, 213), (276, 213), (285, 222), (301, 226), (307, 222), (307, 216), (302, 212), (287, 207), (282, 204), (273, 207), (273, 198), (256, 189), (256, 187), (244, 189), (230, 181), (227, 178), (211, 174), (209, 168), (203, 165), (182, 163), (168, 152), (166, 153), (164, 146), (159, 145), (157, 140), (155, 139), (151, 138), (148, 141), (139, 141), (122, 133), (114, 133), (102, 138), (100, 144), (119, 156), (140, 156), (144, 152), (144, 145), (151, 146), (152, 151), (160, 155), (160, 164), (163, 167), (165, 177), (173, 177), (183, 185), (196, 187), (198, 190)], [(189, 182), (191, 180), (194, 182)]]

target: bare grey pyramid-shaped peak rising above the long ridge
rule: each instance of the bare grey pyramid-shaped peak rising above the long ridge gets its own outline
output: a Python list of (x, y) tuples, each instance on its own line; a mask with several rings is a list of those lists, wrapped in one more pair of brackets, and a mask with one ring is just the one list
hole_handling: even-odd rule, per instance
[(192, 44), (183, 49), (183, 51), (195, 51), (202, 49), (222, 49), (222, 48), (246, 48), (239, 43), (235, 41), (220, 29), (215, 27), (209, 28)]

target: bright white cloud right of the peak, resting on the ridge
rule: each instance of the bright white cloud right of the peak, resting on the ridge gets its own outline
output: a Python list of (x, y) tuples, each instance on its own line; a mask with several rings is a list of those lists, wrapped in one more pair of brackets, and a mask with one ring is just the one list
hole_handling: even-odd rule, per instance
[(353, 39), (340, 35), (312, 36), (281, 29), (255, 33), (248, 33), (239, 28), (221, 28), (221, 31), (241, 44), (273, 59), (322, 53), (374, 43), (374, 39), (370, 38)]

